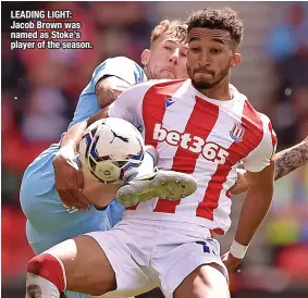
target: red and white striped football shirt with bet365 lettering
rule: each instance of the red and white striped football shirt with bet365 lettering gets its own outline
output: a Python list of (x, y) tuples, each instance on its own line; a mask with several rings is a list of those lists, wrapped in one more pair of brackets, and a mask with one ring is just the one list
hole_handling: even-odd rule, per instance
[(152, 199), (125, 216), (196, 223), (224, 234), (230, 225), (236, 167), (270, 164), (276, 138), (270, 120), (230, 85), (232, 100), (207, 98), (186, 80), (156, 80), (123, 92), (109, 115), (143, 128), (145, 144), (159, 152), (160, 169), (192, 174), (198, 189), (180, 201)]

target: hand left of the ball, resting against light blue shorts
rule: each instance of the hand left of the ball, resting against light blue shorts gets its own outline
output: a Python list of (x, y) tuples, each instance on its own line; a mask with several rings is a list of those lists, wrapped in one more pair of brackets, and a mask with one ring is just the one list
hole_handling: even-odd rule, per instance
[(83, 171), (69, 159), (58, 154), (53, 160), (56, 188), (64, 206), (87, 210), (89, 201), (83, 195)]

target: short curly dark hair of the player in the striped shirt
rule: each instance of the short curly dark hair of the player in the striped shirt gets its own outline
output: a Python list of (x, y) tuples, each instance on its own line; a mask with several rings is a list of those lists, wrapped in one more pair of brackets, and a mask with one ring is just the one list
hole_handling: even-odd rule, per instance
[(239, 44), (244, 35), (243, 22), (238, 18), (237, 12), (231, 8), (205, 9), (189, 14), (186, 21), (188, 33), (193, 28), (223, 29), (231, 34), (231, 37)]

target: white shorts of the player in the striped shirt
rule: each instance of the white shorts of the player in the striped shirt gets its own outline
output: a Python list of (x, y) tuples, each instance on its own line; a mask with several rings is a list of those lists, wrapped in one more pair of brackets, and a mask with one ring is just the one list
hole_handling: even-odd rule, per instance
[(219, 264), (220, 245), (208, 228), (187, 223), (125, 219), (111, 231), (86, 234), (110, 261), (116, 289), (106, 297), (137, 296), (160, 287), (167, 298), (201, 264)]

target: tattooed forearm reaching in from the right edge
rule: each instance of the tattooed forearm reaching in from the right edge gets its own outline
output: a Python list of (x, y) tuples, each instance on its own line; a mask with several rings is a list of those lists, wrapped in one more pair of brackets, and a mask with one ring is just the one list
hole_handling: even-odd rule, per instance
[(274, 162), (275, 179), (279, 179), (308, 162), (308, 142), (304, 141), (278, 152)]

